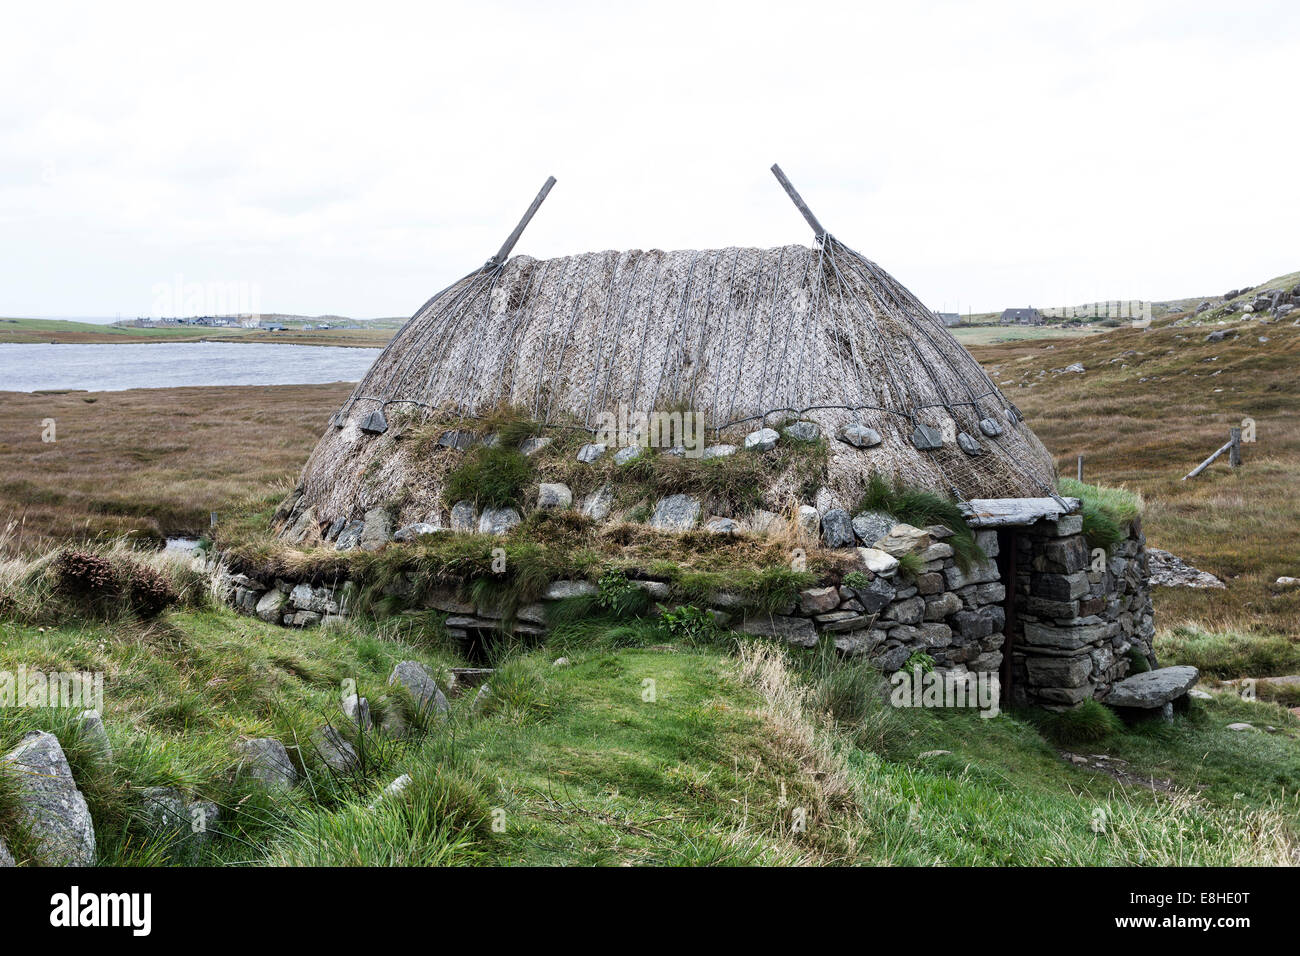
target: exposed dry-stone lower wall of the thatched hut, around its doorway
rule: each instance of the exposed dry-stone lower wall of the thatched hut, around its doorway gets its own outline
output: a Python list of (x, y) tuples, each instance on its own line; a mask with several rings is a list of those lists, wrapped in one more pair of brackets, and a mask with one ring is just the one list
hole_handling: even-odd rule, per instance
[[(1140, 522), (1127, 529), (1112, 554), (1100, 558), (1089, 550), (1078, 515), (1005, 531), (1013, 532), (1008, 540), (1017, 548), (1010, 662), (1014, 704), (1070, 708), (1104, 696), (1130, 674), (1131, 654), (1154, 666)], [(997, 531), (978, 531), (988, 559), (963, 571), (945, 544), (948, 537), (950, 532), (942, 527), (896, 525), (876, 542), (892, 546), (894, 554), (918, 554), (923, 563), (915, 579), (898, 570), (893, 554), (859, 548), (861, 579), (854, 585), (823, 581), (772, 614), (755, 613), (738, 594), (725, 592), (710, 594), (703, 604), (725, 627), (800, 648), (831, 643), (845, 656), (870, 658), (884, 672), (898, 670), (916, 652), (928, 654), (940, 670), (997, 672), (1009, 627), (1006, 587), (998, 568), (1008, 555), (1000, 555)], [(248, 575), (222, 580), (229, 602), (240, 611), (296, 627), (346, 615), (354, 589), (350, 583), (330, 588)], [(673, 605), (667, 581), (634, 584), (656, 602)], [(589, 581), (554, 581), (541, 601), (517, 610), (514, 631), (542, 635), (549, 604), (595, 593), (597, 585)], [(412, 583), (396, 587), (394, 596), (406, 598), (412, 609), (445, 613), (447, 631), (465, 641), (495, 631), (502, 619), (498, 610), (463, 601), (451, 588), (420, 593)]]

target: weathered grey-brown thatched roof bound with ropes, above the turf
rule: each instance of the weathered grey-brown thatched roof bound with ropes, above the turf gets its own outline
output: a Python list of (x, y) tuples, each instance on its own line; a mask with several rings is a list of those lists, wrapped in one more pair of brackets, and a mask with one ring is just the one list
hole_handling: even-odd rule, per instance
[[(812, 420), (845, 502), (874, 471), (961, 499), (1054, 488), (1050, 455), (942, 321), (823, 232), (814, 247), (489, 260), (376, 359), (312, 454), (304, 501), (322, 520), (372, 503), (360, 472), (385, 468), (367, 449), (395, 411), (446, 420), (504, 405), (593, 431), (620, 407), (690, 410), (711, 441)], [(880, 444), (837, 441), (854, 423)]]

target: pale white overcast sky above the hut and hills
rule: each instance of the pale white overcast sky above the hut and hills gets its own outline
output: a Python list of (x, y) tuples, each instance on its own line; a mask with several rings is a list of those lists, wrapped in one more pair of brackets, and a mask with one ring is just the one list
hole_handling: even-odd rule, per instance
[(516, 252), (811, 239), (932, 308), (1300, 268), (1294, 3), (6, 5), (0, 315), (410, 315)]

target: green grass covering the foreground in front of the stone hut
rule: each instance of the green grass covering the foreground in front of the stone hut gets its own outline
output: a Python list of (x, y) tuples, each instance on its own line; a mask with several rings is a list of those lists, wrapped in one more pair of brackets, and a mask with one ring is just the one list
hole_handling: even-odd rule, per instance
[[(568, 666), (554, 666), (560, 654)], [(289, 795), (230, 778), (239, 735), (292, 744), (337, 721), (344, 678), (377, 713), (400, 706), (384, 682), (403, 658), (443, 676), (459, 663), (413, 618), (338, 631), (226, 610), (4, 624), (0, 669), (107, 671), (116, 753), (100, 765), (70, 714), (17, 709), (0, 713), (0, 748), (30, 727), (57, 734), (100, 862), (124, 865), (1248, 865), (1294, 852), (1300, 822), (1300, 722), (1274, 705), (1225, 695), (1173, 724), (1093, 737), (1088, 753), (1175, 788), (1153, 793), (1065, 762), (1023, 715), (894, 709), (866, 663), (679, 641), (645, 618), (576, 618), (546, 646), (506, 648), (485, 705), (464, 695), (446, 723), (360, 737), (363, 774), (332, 774), (304, 747), (306, 782)], [(1234, 719), (1284, 732), (1226, 731)], [(380, 797), (403, 773), (412, 784)], [(151, 835), (146, 786), (217, 801), (217, 838), (194, 855)], [(14, 818), (0, 782), (0, 835), (30, 860)]]

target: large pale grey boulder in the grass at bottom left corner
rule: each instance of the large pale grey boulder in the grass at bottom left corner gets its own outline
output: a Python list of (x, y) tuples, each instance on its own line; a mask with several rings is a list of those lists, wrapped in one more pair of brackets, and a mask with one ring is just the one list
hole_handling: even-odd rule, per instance
[(18, 816), (47, 866), (95, 862), (95, 825), (53, 734), (32, 731), (0, 758), (18, 800)]

